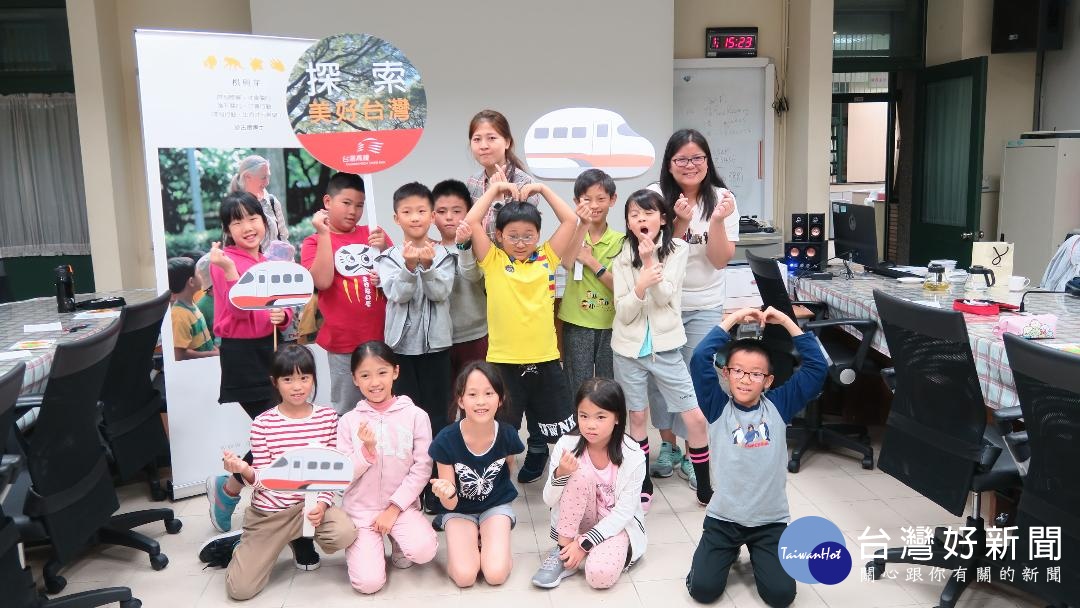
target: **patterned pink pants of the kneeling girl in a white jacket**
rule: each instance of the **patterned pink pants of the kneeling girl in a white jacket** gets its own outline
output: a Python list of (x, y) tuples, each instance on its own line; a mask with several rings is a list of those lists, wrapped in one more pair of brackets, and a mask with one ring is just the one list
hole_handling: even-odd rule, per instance
[[(596, 478), (580, 469), (570, 475), (558, 499), (558, 536), (575, 538), (600, 521), (596, 512)], [(360, 542), (357, 540), (357, 542)], [(630, 537), (623, 530), (597, 544), (585, 557), (585, 581), (593, 589), (608, 589), (626, 566)]]

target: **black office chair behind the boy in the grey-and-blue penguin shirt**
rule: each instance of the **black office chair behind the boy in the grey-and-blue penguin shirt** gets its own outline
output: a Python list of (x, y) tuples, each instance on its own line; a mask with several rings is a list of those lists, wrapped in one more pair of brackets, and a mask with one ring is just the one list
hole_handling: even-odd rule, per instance
[[(798, 319), (795, 316), (794, 305), (805, 306), (814, 311), (815, 320), (805, 323), (802, 327), (813, 332), (821, 340), (829, 364), (828, 382), (833, 387), (840, 389), (851, 384), (859, 374), (877, 373), (877, 368), (868, 356), (870, 342), (878, 328), (877, 323), (869, 319), (822, 319), (827, 310), (827, 307), (822, 302), (792, 301), (787, 295), (787, 287), (784, 285), (783, 271), (777, 265), (777, 260), (755, 255), (752, 252), (746, 252), (746, 259), (750, 261), (751, 272), (754, 273), (754, 280), (757, 282), (757, 289), (761, 294), (761, 302), (765, 306), (771, 306), (796, 322)], [(854, 327), (863, 335), (854, 352), (842, 341), (833, 340), (827, 335), (823, 337), (821, 334), (825, 327), (842, 326)], [(782, 384), (791, 377), (797, 365), (797, 360), (793, 354), (795, 347), (792, 338), (783, 327), (770, 324), (766, 325), (762, 339), (773, 362), (774, 386)], [(874, 447), (870, 446), (866, 427), (826, 423), (823, 421), (820, 397), (807, 404), (801, 424), (796, 423), (789, 428), (788, 445), (792, 445), (793, 448), (787, 470), (792, 473), (798, 473), (802, 458), (810, 449), (818, 446), (843, 447), (854, 450), (863, 457), (863, 469), (873, 469)]]

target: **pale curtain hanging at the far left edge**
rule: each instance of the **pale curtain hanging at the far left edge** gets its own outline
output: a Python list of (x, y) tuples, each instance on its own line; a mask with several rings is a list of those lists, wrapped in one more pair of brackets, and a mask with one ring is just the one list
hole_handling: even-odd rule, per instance
[(0, 95), (0, 258), (85, 254), (75, 95)]

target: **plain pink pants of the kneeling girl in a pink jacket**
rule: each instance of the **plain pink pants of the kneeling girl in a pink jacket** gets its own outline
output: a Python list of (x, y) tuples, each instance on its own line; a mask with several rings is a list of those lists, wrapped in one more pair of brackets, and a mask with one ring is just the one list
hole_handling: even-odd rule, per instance
[[(387, 583), (387, 554), (382, 535), (375, 531), (372, 524), (379, 512), (352, 516), (356, 526), (356, 541), (345, 550), (349, 567), (349, 582), (361, 593), (375, 593)], [(390, 529), (390, 537), (397, 541), (402, 553), (414, 564), (427, 564), (435, 557), (438, 538), (431, 522), (416, 508), (402, 511)]]

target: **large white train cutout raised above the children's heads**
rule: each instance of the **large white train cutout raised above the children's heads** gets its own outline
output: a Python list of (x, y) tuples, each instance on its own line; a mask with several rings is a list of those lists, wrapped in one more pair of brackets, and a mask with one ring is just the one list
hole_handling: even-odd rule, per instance
[(525, 160), (541, 178), (575, 179), (590, 168), (616, 178), (635, 177), (656, 158), (652, 143), (611, 110), (555, 110), (540, 117), (525, 134)]

